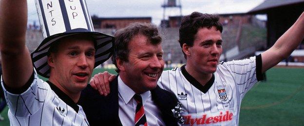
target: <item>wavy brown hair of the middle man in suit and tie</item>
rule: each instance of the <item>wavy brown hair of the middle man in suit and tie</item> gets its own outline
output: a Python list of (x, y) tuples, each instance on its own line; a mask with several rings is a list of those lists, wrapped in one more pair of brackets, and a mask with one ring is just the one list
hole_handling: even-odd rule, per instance
[(115, 33), (114, 52), (112, 55), (112, 62), (116, 66), (115, 71), (119, 73), (116, 59), (119, 58), (122, 61), (129, 62), (129, 43), (132, 38), (138, 34), (144, 35), (148, 38), (149, 42), (153, 45), (160, 44), (162, 38), (158, 34), (158, 30), (155, 25), (148, 23), (132, 23), (126, 28), (120, 29)]

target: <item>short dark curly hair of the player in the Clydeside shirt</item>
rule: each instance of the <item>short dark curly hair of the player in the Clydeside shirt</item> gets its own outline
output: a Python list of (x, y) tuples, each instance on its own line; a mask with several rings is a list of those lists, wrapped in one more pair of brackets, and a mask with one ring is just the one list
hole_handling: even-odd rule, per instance
[[(195, 39), (195, 35), (199, 28), (216, 27), (217, 30), (223, 31), (223, 26), (219, 22), (219, 16), (202, 14), (199, 12), (193, 12), (189, 16), (185, 16), (182, 20), (181, 26), (179, 28), (179, 44), (183, 47), (183, 44), (187, 44), (192, 47)], [(184, 53), (184, 52), (183, 52)], [(184, 53), (186, 58), (186, 55)]]

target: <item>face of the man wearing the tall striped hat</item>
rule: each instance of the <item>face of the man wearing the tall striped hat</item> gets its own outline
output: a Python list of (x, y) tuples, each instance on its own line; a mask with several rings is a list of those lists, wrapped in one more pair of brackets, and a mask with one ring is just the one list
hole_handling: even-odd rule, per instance
[(78, 94), (87, 86), (95, 64), (93, 40), (77, 35), (62, 38), (48, 57), (50, 81), (66, 94)]

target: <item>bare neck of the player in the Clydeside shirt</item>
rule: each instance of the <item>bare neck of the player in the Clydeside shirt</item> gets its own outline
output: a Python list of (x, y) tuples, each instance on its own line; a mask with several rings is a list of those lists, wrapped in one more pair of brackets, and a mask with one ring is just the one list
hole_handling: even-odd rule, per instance
[(194, 79), (196, 79), (203, 86), (205, 86), (207, 82), (212, 78), (212, 73), (197, 72), (188, 64), (185, 66), (185, 69)]

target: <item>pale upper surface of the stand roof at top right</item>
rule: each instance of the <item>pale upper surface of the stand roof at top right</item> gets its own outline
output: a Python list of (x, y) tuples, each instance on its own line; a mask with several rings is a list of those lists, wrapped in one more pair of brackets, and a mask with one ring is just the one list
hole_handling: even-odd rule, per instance
[(260, 5), (250, 10), (249, 14), (260, 14), (265, 13), (267, 10), (282, 6), (288, 6), (298, 3), (304, 3), (304, 0), (265, 0)]

